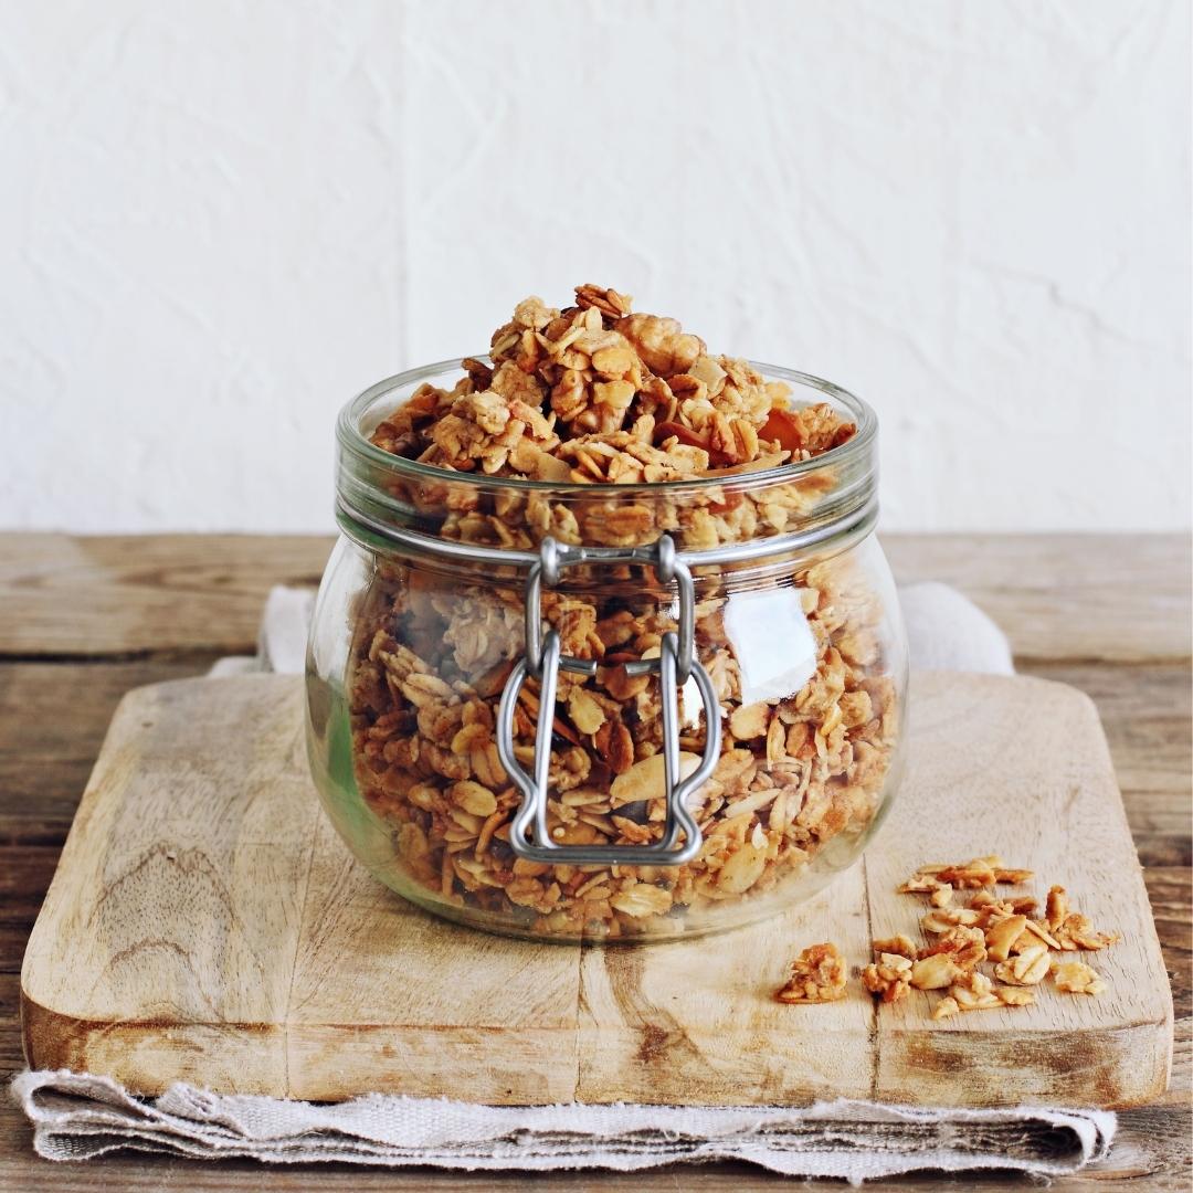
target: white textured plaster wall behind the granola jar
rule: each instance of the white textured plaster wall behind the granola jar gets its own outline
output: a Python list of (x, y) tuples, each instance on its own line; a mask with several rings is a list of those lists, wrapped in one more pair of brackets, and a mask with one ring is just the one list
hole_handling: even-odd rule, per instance
[(330, 525), (527, 292), (855, 388), (889, 526), (1189, 519), (1185, 0), (0, 0), (0, 525)]

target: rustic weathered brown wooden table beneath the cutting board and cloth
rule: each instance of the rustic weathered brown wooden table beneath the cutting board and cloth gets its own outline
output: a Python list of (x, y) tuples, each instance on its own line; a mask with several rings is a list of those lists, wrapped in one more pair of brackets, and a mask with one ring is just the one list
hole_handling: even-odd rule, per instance
[[(1113, 1155), (1075, 1189), (1181, 1189), (1191, 1173), (1189, 549), (1180, 537), (890, 536), (898, 579), (956, 585), (1009, 633), (1020, 670), (1073, 684), (1101, 711), (1126, 801), (1176, 1006), (1167, 1096), (1120, 1117)], [(69, 538), (0, 534), (0, 1070), (21, 1064), (20, 958), (104, 730), (130, 687), (203, 673), (253, 650), (265, 593), (315, 583), (329, 540), (314, 537)], [(747, 1189), (779, 1177), (738, 1166), (639, 1176), (544, 1177), (560, 1191)], [(119, 1157), (50, 1164), (0, 1104), (0, 1189), (456, 1189), (506, 1177), (270, 1169)], [(957, 1182), (914, 1177), (900, 1189)], [(966, 1189), (1014, 1177), (966, 1177)], [(836, 1185), (835, 1187), (840, 1187)]]

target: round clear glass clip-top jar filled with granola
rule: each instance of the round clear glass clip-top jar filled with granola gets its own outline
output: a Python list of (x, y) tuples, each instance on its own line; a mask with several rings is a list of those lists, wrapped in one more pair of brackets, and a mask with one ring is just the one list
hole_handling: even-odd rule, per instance
[(771, 915), (859, 857), (898, 785), (907, 701), (877, 424), (827, 382), (755, 367), (857, 433), (758, 471), (551, 484), (369, 443), (456, 361), (344, 409), (308, 746), (385, 885), (494, 932), (667, 940)]

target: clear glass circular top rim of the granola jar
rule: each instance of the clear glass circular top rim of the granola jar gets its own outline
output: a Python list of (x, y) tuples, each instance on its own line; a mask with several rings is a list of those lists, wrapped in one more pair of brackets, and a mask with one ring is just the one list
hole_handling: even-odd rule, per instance
[[(420, 365), (415, 369), (407, 369), (395, 373), (392, 377), (376, 382), (367, 389), (359, 392), (341, 409), (336, 419), (336, 439), (341, 450), (350, 452), (361, 462), (367, 462), (381, 468), (391, 470), (398, 476), (404, 476), (415, 481), (429, 482), (459, 482), (476, 486), (493, 493), (544, 493), (550, 492), (560, 496), (577, 496), (581, 494), (599, 497), (610, 494), (630, 495), (633, 493), (651, 492), (659, 494), (697, 494), (704, 489), (713, 489), (725, 484), (735, 487), (752, 487), (754, 484), (766, 486), (773, 482), (796, 480), (817, 469), (848, 464), (864, 456), (873, 446), (878, 434), (878, 415), (873, 408), (858, 397), (855, 394), (830, 381), (816, 377), (812, 373), (802, 372), (798, 369), (787, 369), (781, 365), (768, 365), (756, 360), (748, 360), (750, 367), (760, 372), (767, 381), (785, 381), (805, 389), (814, 389), (839, 402), (848, 412), (857, 431), (849, 439), (836, 447), (812, 456), (810, 459), (787, 462), (775, 468), (759, 469), (754, 472), (733, 472), (721, 470), (711, 472), (709, 476), (685, 478), (679, 481), (643, 481), (632, 484), (617, 484), (610, 482), (576, 482), (576, 481), (533, 481), (514, 476), (490, 476), (484, 472), (459, 472), (451, 469), (439, 468), (435, 464), (424, 464), (406, 456), (395, 456), (384, 451), (369, 441), (361, 431), (361, 424), (373, 403), (382, 395), (407, 385), (415, 385), (420, 382), (429, 381), (439, 373), (451, 369), (460, 367), (460, 360), (466, 358), (452, 357), (447, 360), (438, 360), (434, 364)], [(488, 353), (475, 353), (471, 359), (488, 360)]]

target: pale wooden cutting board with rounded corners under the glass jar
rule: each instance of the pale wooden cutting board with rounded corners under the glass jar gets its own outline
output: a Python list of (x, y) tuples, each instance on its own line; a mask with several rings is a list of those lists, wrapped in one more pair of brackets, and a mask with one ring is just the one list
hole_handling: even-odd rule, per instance
[[(864, 863), (765, 925), (653, 946), (511, 941), (415, 910), (357, 866), (307, 772), (302, 681), (130, 692), (84, 795), (21, 972), (33, 1068), (143, 1092), (523, 1104), (781, 1104), (854, 1096), (1123, 1106), (1160, 1094), (1168, 978), (1093, 704), (1025, 678), (921, 675), (910, 766)], [(1106, 994), (933, 1022), (857, 981), (772, 991), (834, 940), (915, 935), (922, 863), (1001, 853), (1123, 940), (1082, 954)]]

